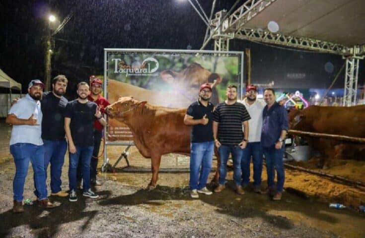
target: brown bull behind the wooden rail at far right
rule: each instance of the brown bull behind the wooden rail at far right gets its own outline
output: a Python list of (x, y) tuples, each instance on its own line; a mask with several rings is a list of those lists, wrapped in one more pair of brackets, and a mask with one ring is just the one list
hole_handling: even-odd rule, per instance
[[(290, 129), (317, 133), (365, 137), (365, 106), (310, 106), (289, 113)], [(328, 168), (331, 158), (355, 157), (365, 153), (364, 144), (304, 136), (321, 154), (318, 166)]]

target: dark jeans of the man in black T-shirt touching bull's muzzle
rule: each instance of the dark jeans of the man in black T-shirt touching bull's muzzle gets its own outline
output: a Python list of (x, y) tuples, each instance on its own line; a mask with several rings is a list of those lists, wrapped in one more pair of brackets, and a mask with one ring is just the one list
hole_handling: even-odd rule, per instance
[(94, 146), (79, 146), (76, 145), (76, 153), (69, 154), (70, 157), (70, 166), (69, 166), (69, 183), (70, 183), (70, 191), (76, 190), (77, 179), (77, 165), (81, 163), (82, 166), (82, 188), (84, 191), (89, 190), (90, 188), (90, 160), (92, 151)]

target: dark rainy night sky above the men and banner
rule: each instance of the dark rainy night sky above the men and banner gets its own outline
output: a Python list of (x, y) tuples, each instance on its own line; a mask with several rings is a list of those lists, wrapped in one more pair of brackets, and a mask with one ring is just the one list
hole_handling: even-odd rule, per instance
[[(209, 15), (212, 1), (199, 2)], [(215, 12), (229, 10), (234, 2), (217, 0)], [(199, 50), (206, 31), (187, 0), (2, 0), (0, 9), (0, 68), (23, 84), (23, 92), (31, 79), (44, 79), (44, 36), (50, 12), (61, 21), (73, 12), (54, 36), (51, 75), (65, 74), (69, 91), (89, 75), (103, 74), (104, 48)], [(245, 48), (251, 49), (252, 82), (274, 80), (275, 87), (282, 88), (327, 88), (345, 62), (337, 55), (230, 41), (231, 51)], [(205, 50), (213, 50), (213, 41)], [(361, 60), (359, 85), (364, 85), (364, 75)], [(344, 73), (334, 87), (343, 86)]]

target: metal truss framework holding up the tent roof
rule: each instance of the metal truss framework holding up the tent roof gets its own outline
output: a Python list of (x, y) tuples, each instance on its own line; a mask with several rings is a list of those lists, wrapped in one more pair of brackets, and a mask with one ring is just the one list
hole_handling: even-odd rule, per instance
[[(208, 21), (206, 37), (201, 47), (203, 50), (210, 40), (214, 39), (215, 51), (229, 51), (230, 39), (243, 39), (285, 47), (299, 48), (342, 55), (346, 58), (345, 93), (343, 106), (356, 104), (359, 59), (364, 59), (365, 45), (348, 47), (337, 43), (316, 39), (295, 37), (280, 32), (272, 33), (262, 29), (245, 28), (245, 24), (276, 0), (247, 0), (234, 12), (219, 11), (214, 19)], [(237, 2), (236, 2), (237, 3)], [(213, 4), (212, 12), (215, 4)], [(235, 6), (235, 5), (234, 5)]]

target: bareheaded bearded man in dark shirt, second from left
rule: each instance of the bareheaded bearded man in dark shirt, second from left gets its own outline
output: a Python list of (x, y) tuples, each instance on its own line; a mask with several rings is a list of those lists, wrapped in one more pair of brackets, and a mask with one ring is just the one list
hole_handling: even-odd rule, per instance
[(61, 190), (62, 166), (67, 150), (64, 113), (68, 100), (63, 96), (66, 93), (67, 82), (65, 75), (57, 75), (52, 81), (52, 91), (44, 92), (41, 101), (44, 168), (47, 177), (47, 168), (51, 164), (51, 195), (60, 197), (69, 195)]

